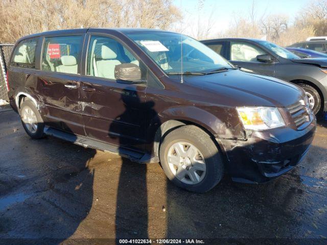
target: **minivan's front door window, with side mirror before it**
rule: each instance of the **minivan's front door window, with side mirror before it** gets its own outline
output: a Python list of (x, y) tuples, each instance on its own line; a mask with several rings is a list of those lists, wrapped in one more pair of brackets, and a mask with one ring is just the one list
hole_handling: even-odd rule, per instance
[(91, 36), (87, 51), (86, 74), (112, 80), (145, 81), (147, 69), (115, 39)]

